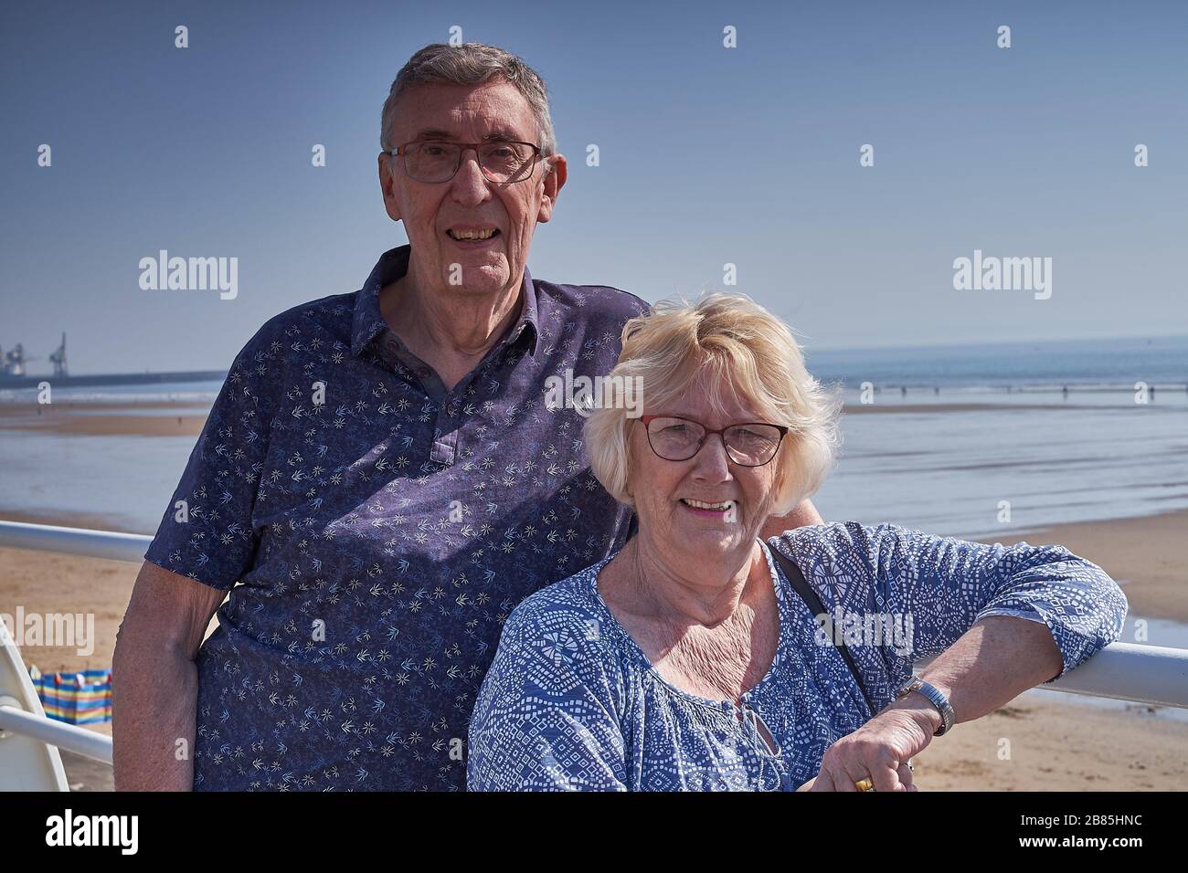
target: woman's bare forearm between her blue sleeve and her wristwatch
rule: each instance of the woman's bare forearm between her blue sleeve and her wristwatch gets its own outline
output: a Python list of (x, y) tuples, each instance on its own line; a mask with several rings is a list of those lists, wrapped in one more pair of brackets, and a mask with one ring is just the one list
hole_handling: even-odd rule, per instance
[[(918, 676), (953, 706), (956, 721), (973, 721), (1057, 676), (1064, 662), (1042, 621), (990, 615), (971, 627)], [(887, 709), (910, 711), (933, 730), (941, 726), (936, 707), (909, 694)]]

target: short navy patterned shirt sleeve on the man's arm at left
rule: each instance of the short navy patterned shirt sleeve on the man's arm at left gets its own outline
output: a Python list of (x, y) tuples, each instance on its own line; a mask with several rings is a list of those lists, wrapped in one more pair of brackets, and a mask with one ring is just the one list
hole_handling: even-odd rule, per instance
[(268, 448), (270, 393), (282, 384), (268, 327), (235, 356), (145, 552), (158, 567), (211, 588), (232, 588), (259, 542), (253, 510)]

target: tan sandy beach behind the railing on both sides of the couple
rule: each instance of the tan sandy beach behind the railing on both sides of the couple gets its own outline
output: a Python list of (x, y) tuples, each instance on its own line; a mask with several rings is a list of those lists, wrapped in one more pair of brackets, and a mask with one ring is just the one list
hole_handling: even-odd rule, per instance
[[(148, 409), (159, 415), (144, 415)], [(0, 404), (0, 430), (141, 437), (198, 434), (203, 418), (182, 415), (179, 420), (172, 412), (181, 409), (179, 404), (137, 404), (135, 409), (116, 403), (63, 404), (38, 416), (31, 405)], [(929, 411), (939, 410), (930, 406)], [(2, 506), (0, 518), (107, 526), (97, 517), (30, 515), (6, 512)], [(1132, 614), (1188, 622), (1186, 533), (1188, 511), (1177, 511), (1012, 532), (997, 539), (1007, 545), (1020, 540), (1066, 545), (1123, 583)], [(26, 614), (95, 616), (90, 656), (80, 656), (72, 649), (37, 647), (24, 652), (26, 663), (43, 672), (109, 666), (137, 569), (121, 562), (0, 549), (0, 612), (14, 613), (20, 605)], [(96, 729), (109, 733), (110, 726)], [(1004, 754), (1006, 746), (1009, 757)], [(110, 789), (110, 771), (106, 767), (67, 757), (67, 770), (76, 790)], [(1063, 697), (1053, 701), (1024, 695), (939, 738), (917, 757), (916, 779), (922, 790), (1181, 790), (1188, 784), (1188, 722), (1158, 717), (1144, 706), (1113, 711), (1072, 696), (1066, 702)]]

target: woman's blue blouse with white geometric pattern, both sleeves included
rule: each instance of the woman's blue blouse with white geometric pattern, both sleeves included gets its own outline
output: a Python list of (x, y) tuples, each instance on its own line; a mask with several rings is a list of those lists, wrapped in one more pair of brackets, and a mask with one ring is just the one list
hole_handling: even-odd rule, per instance
[[(820, 595), (876, 710), (893, 700), (912, 660), (939, 654), (988, 615), (1048, 625), (1061, 676), (1118, 639), (1126, 615), (1113, 580), (1057, 545), (1005, 548), (855, 521), (769, 543)], [(873, 713), (840, 652), (822, 645), (823, 622), (765, 552), (779, 645), (741, 708), (656, 672), (598, 592), (611, 558), (525, 600), (507, 619), (472, 716), (469, 787), (791, 790), (816, 776), (826, 749)], [(861, 638), (859, 616), (871, 619)], [(756, 715), (778, 749), (762, 740)]]

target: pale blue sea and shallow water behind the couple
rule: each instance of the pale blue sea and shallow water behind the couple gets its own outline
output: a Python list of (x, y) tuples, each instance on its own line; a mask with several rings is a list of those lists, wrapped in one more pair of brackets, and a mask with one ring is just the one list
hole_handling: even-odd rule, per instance
[[(846, 401), (838, 462), (814, 495), (826, 519), (992, 538), (1188, 507), (1188, 336), (805, 347), (805, 360)], [(204, 415), (220, 388), (59, 387), (53, 400)], [(34, 397), (0, 391), (0, 403)], [(152, 400), (182, 407), (135, 409)], [(151, 533), (194, 443), (0, 428), (0, 512), (81, 513)]]

